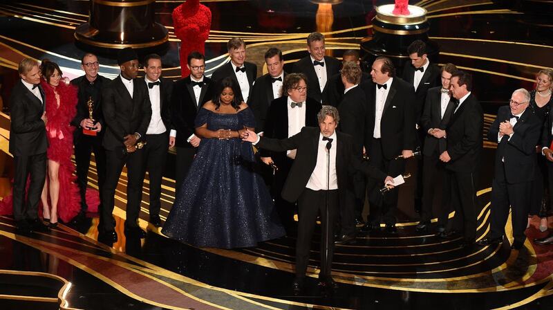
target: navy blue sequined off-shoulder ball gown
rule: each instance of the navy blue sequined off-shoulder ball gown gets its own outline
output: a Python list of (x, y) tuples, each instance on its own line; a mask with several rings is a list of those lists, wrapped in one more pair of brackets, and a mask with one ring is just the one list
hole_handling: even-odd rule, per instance
[[(236, 114), (200, 109), (196, 127), (254, 127), (250, 108)], [(282, 237), (285, 232), (272, 198), (259, 174), (253, 172), (252, 144), (239, 138), (203, 138), (182, 183), (162, 233), (194, 246), (245, 248)]]

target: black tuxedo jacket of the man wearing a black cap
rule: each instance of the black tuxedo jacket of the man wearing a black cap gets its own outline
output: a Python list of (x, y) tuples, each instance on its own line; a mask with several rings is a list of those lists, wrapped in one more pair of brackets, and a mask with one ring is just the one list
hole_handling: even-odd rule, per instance
[(144, 136), (151, 119), (151, 103), (144, 78), (133, 80), (133, 96), (119, 75), (102, 89), (102, 111), (106, 132), (102, 145), (111, 151), (123, 147), (124, 136)]

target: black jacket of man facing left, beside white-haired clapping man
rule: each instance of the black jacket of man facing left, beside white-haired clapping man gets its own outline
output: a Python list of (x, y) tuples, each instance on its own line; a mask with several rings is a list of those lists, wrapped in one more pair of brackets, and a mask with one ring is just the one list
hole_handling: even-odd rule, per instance
[(471, 94), (451, 115), (446, 128), (447, 154), (451, 157), (445, 166), (447, 170), (473, 172), (477, 169), (482, 153), (483, 122), (480, 102)]

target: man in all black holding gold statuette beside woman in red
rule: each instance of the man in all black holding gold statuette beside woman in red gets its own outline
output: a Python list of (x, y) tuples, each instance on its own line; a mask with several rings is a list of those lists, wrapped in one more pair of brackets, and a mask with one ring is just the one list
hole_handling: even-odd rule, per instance
[[(93, 53), (86, 53), (82, 57), (81, 67), (84, 75), (71, 80), (77, 86), (77, 113), (71, 121), (75, 126), (73, 143), (75, 144), (75, 163), (77, 164), (77, 185), (81, 194), (81, 211), (75, 221), (84, 219), (86, 210), (86, 186), (88, 184), (88, 167), (90, 167), (91, 153), (94, 152), (96, 171), (98, 175), (98, 190), (102, 192), (106, 180), (106, 152), (102, 146), (104, 138), (104, 116), (102, 115), (102, 88), (110, 82), (98, 74), (100, 63)], [(88, 101), (92, 102), (92, 119), (88, 113)], [(95, 132), (94, 134), (91, 131)], [(100, 210), (102, 207), (100, 206)]]

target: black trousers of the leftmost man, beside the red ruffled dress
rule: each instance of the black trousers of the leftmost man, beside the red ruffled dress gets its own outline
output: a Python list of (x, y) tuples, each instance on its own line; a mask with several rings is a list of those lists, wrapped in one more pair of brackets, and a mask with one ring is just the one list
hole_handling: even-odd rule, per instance
[[(46, 180), (46, 153), (14, 156), (13, 161), (13, 217), (15, 221), (37, 219), (40, 194)], [(30, 184), (25, 200), (27, 178), (30, 178)]]

